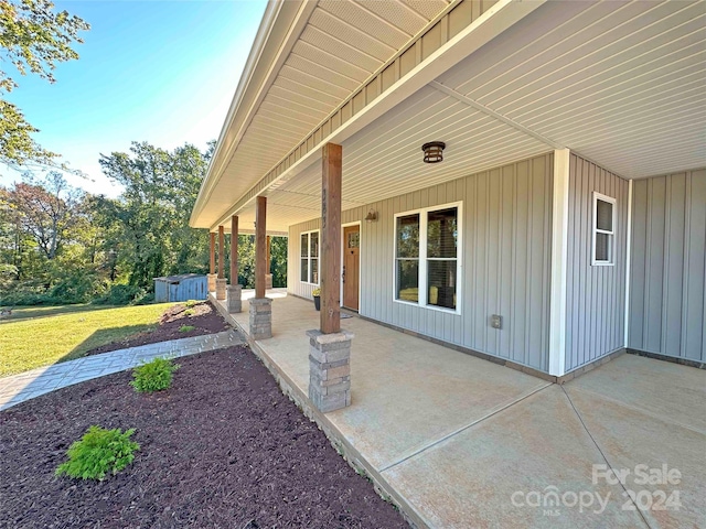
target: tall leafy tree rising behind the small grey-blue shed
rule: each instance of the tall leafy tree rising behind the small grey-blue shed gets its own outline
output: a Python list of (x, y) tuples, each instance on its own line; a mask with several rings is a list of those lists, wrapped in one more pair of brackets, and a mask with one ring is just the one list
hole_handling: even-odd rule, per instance
[(130, 284), (151, 289), (152, 278), (205, 270), (207, 234), (189, 227), (213, 152), (185, 144), (173, 152), (133, 142), (130, 153), (100, 156), (104, 173), (125, 187), (117, 201), (101, 202), (107, 223), (117, 223), (118, 263)]

